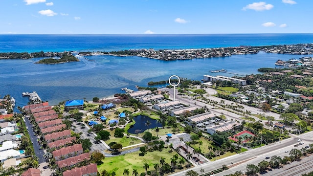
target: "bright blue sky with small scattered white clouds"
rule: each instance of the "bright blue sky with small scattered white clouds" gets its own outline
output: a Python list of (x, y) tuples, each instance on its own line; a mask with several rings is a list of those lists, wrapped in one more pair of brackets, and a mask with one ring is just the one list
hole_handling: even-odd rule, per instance
[(313, 31), (313, 0), (0, 0), (0, 6), (0, 34)]

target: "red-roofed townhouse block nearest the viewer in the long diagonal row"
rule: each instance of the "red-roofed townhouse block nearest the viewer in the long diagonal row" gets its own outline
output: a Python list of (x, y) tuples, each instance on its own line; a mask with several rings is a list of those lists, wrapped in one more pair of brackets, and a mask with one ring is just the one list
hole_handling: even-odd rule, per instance
[(97, 173), (98, 173), (97, 164), (92, 163), (80, 168), (67, 170), (63, 173), (63, 176), (96, 176)]

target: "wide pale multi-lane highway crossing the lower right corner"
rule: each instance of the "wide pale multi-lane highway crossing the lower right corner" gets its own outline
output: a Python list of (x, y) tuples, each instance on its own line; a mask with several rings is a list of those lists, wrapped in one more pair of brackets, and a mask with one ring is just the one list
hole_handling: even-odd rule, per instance
[[(235, 154), (229, 157), (225, 157), (214, 162), (204, 163), (204, 164), (201, 164), (199, 166), (192, 168), (192, 170), (200, 173), (200, 170), (203, 169), (205, 173), (208, 173), (218, 168), (222, 168), (223, 164), (229, 166), (231, 165), (231, 163), (233, 164), (241, 163), (240, 165), (233, 167), (227, 171), (224, 171), (220, 174), (216, 174), (215, 176), (224, 176), (224, 175), (231, 174), (239, 170), (244, 172), (246, 171), (246, 164), (250, 164), (250, 163), (258, 164), (260, 161), (266, 160), (265, 158), (267, 156), (270, 157), (272, 155), (277, 155), (277, 156), (288, 155), (284, 151), (286, 150), (290, 151), (292, 148), (294, 148), (293, 145), (299, 143), (297, 142), (298, 138), (301, 138), (302, 142), (304, 142), (304, 145), (296, 147), (297, 149), (301, 149), (305, 145), (313, 143), (313, 132), (307, 132), (305, 134), (299, 135), (298, 137), (288, 138), (279, 142), (269, 144), (267, 146), (263, 146), (261, 148), (246, 151), (242, 154)], [(184, 174), (184, 172), (186, 171), (175, 173), (175, 174), (172, 174), (171, 176), (181, 176)]]

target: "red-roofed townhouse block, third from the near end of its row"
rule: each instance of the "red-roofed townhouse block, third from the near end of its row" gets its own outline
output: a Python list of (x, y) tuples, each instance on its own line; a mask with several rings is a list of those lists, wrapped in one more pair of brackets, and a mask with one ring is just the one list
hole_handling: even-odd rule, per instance
[(83, 154), (82, 144), (75, 144), (73, 146), (63, 147), (52, 152), (53, 158), (56, 161), (61, 161), (69, 157), (77, 156), (79, 154)]

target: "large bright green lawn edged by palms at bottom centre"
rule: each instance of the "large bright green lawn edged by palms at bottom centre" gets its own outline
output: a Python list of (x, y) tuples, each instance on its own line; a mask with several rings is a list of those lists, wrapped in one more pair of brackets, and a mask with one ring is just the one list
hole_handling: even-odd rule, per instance
[[(123, 154), (119, 156), (114, 157), (106, 157), (103, 161), (103, 164), (100, 166), (97, 166), (98, 172), (101, 174), (103, 170), (107, 170), (109, 173), (112, 173), (114, 171), (116, 173), (116, 176), (123, 176), (123, 171), (125, 169), (129, 169), (131, 175), (133, 172), (133, 169), (137, 169), (139, 175), (140, 173), (144, 173), (145, 169), (143, 168), (144, 163), (149, 164), (148, 171), (153, 171), (155, 163), (160, 164), (160, 158), (164, 157), (165, 162), (169, 163), (171, 165), (170, 159), (174, 154), (177, 154), (175, 151), (172, 153), (169, 153), (170, 149), (163, 149), (162, 152), (154, 151), (154, 152), (148, 152), (144, 156), (139, 156), (139, 151), (130, 153), (130, 154)], [(180, 157), (180, 156), (179, 156)], [(178, 170), (176, 170), (178, 171)]]

